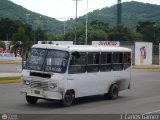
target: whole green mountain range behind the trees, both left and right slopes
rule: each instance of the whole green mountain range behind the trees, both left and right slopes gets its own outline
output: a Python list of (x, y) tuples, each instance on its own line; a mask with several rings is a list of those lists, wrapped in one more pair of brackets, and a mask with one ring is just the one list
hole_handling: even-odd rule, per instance
[[(135, 27), (139, 21), (154, 21), (160, 25), (160, 5), (153, 5), (141, 2), (122, 3), (122, 24)], [(66, 32), (73, 30), (75, 20), (71, 19), (65, 22), (58, 21), (17, 5), (9, 0), (0, 0), (0, 19), (11, 18), (21, 20), (24, 23), (31, 24), (34, 29), (41, 27), (52, 34), (63, 34), (64, 27)], [(77, 24), (85, 24), (86, 16), (77, 19)], [(117, 5), (105, 7), (88, 13), (88, 22), (99, 20), (115, 26), (117, 23)], [(65, 24), (64, 24), (65, 23)]]

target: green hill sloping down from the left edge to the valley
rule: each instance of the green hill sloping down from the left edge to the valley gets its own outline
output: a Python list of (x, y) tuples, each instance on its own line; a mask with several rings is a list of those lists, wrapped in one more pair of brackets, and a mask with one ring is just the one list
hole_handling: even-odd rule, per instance
[(63, 22), (17, 5), (9, 0), (0, 0), (0, 19), (10, 18), (31, 24), (33, 29), (41, 27), (53, 34), (62, 34)]

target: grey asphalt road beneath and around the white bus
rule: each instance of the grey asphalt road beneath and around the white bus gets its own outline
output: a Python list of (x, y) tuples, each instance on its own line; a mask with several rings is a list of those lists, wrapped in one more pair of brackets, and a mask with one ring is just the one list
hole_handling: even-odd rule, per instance
[[(14, 114), (160, 114), (160, 71), (133, 70), (132, 89), (120, 93), (116, 100), (103, 96), (77, 99), (73, 106), (61, 107), (57, 101), (39, 100), (28, 105), (19, 94), (20, 84), (0, 85), (0, 113)], [(40, 117), (39, 117), (40, 118)]]

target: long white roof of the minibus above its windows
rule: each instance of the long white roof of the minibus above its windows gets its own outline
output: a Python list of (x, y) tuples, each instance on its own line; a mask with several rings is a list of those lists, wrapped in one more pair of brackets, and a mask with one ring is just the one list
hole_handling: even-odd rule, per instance
[(57, 45), (57, 44), (36, 44), (32, 48), (44, 48), (44, 49), (58, 49), (65, 50), (68, 52), (79, 51), (79, 52), (97, 52), (97, 51), (121, 51), (131, 52), (132, 50), (125, 47), (114, 47), (114, 46), (99, 46), (99, 45)]

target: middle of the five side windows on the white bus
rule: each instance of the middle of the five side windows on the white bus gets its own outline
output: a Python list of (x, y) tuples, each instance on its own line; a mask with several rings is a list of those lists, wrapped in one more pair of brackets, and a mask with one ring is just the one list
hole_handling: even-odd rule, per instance
[(106, 72), (106, 71), (111, 71), (112, 70), (112, 65), (111, 65), (111, 59), (112, 59), (112, 53), (110, 52), (102, 52), (100, 56), (101, 60), (101, 65), (100, 65), (100, 71), (101, 72)]

